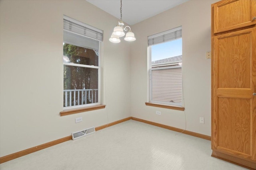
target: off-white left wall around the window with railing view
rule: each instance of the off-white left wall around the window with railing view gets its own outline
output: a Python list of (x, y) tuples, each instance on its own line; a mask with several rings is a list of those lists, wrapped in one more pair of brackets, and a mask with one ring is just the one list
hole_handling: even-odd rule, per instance
[[(104, 31), (105, 109), (59, 115), (63, 15)], [(0, 17), (0, 157), (130, 116), (130, 45), (108, 41), (117, 18), (85, 0), (1, 0)]]

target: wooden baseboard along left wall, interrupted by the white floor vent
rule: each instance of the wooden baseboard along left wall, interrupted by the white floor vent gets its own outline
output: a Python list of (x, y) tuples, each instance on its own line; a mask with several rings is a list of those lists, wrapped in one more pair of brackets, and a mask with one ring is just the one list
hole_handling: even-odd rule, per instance
[[(102, 125), (100, 127), (96, 127), (95, 128), (95, 131), (98, 131), (98, 130), (101, 130), (101, 129), (104, 129), (106, 127), (110, 127), (110, 126), (113, 126), (113, 125), (116, 125), (118, 123), (122, 123), (124, 121), (128, 121), (130, 120), (131, 117), (127, 117), (125, 119), (121, 119), (121, 120), (118, 120), (118, 121), (114, 121), (112, 123), (108, 123), (106, 125)], [(38, 150), (42, 150), (42, 149), (45, 149), (45, 148), (48, 148), (48, 147), (52, 147), (54, 145), (57, 145), (57, 144), (60, 144), (60, 143), (63, 143), (63, 142), (66, 142), (66, 141), (69, 141), (72, 139), (72, 136), (68, 136), (68, 137), (64, 137), (64, 138), (61, 138), (61, 139), (57, 139), (55, 141), (51, 141), (51, 142), (48, 142), (48, 143), (45, 143), (45, 144), (42, 144), (42, 145), (38, 145), (36, 147), (32, 147), (32, 148), (29, 148), (29, 149), (26, 149), (26, 150), (22, 150), (20, 152), (16, 152), (16, 153), (13, 153), (13, 154), (9, 154), (9, 155), (6, 155), (6, 156), (2, 156), (0, 157), (0, 164), (4, 163), (4, 162), (7, 162), (9, 160), (13, 160), (15, 158), (19, 158), (21, 156), (24, 156), (26, 154), (30, 154), (30, 153), (33, 153), (33, 152), (36, 152)]]

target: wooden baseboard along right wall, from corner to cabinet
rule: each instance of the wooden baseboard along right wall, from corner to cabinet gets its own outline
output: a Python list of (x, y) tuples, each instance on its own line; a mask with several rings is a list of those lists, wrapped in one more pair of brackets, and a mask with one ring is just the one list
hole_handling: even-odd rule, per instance
[(191, 135), (191, 136), (194, 136), (194, 137), (199, 137), (199, 138), (206, 139), (206, 140), (209, 140), (209, 141), (211, 140), (210, 136), (202, 135), (200, 133), (195, 133), (195, 132), (191, 132), (191, 131), (184, 131), (183, 129), (179, 129), (179, 128), (176, 128), (176, 127), (171, 127), (171, 126), (163, 125), (163, 124), (160, 124), (160, 123), (155, 123), (155, 122), (152, 122), (152, 121), (138, 119), (136, 117), (132, 117), (132, 120), (140, 121), (140, 122), (143, 122), (143, 123), (147, 123), (147, 124), (150, 124), (150, 125), (162, 127), (164, 129), (169, 129), (169, 130), (176, 131), (176, 132), (182, 132), (183, 131), (182, 133), (184, 133), (186, 135)]

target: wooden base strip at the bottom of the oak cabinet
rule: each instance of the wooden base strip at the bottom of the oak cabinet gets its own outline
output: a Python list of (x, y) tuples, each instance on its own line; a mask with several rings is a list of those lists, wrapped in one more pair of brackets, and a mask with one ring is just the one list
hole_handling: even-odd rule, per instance
[(238, 158), (236, 156), (222, 153), (222, 152), (219, 152), (218, 150), (214, 150), (214, 149), (212, 150), (212, 157), (218, 158), (221, 160), (225, 160), (227, 162), (242, 166), (242, 167), (250, 169), (250, 170), (256, 170), (256, 162), (252, 161), (252, 160)]

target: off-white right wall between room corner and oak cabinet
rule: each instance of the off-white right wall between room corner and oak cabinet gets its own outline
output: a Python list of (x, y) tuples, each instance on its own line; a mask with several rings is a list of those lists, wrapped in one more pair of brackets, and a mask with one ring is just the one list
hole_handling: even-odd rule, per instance
[[(180, 129), (211, 135), (211, 4), (216, 0), (190, 0), (132, 25), (131, 116)], [(146, 106), (148, 98), (147, 36), (182, 25), (182, 79), (185, 111)], [(156, 110), (162, 115), (156, 115)], [(199, 123), (204, 117), (204, 124)]]

